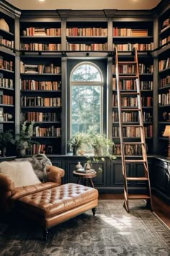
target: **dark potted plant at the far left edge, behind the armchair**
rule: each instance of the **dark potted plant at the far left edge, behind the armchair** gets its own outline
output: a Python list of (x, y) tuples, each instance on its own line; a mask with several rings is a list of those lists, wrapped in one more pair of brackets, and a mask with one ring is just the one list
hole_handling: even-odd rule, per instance
[(0, 147), (2, 150), (2, 156), (6, 156), (6, 147), (9, 143), (14, 144), (12, 130), (9, 129), (4, 132), (0, 132)]

